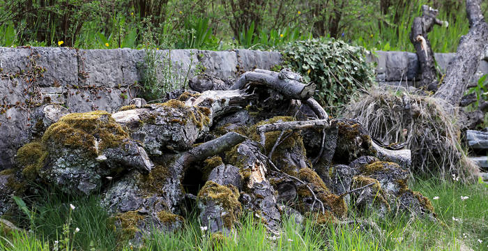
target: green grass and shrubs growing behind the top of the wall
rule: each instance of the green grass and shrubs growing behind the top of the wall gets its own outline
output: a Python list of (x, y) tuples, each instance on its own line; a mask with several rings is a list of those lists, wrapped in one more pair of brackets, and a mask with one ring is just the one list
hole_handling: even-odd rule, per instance
[[(0, 46), (270, 49), (338, 38), (368, 50), (413, 51), (420, 6), (439, 8), (434, 51), (455, 52), (468, 31), (464, 0), (0, 0)], [(487, 1), (482, 10), (487, 13)], [(144, 36), (151, 29), (151, 36)], [(150, 39), (150, 40), (148, 40)]]

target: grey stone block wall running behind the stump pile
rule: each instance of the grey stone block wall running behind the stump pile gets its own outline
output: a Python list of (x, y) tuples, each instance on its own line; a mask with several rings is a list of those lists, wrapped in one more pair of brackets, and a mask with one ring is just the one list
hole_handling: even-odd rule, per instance
[[(270, 69), (280, 63), (279, 52), (232, 50), (160, 50), (169, 56), (172, 75), (204, 72), (222, 79), (235, 78), (253, 68)], [(12, 167), (13, 158), (31, 135), (26, 129), (38, 125), (33, 114), (43, 104), (63, 105), (69, 112), (105, 110), (127, 105), (141, 80), (139, 63), (144, 50), (76, 50), (67, 47), (0, 47), (0, 170)], [(443, 70), (454, 54), (436, 54)], [(376, 52), (367, 56), (377, 63), (379, 82), (402, 84), (415, 81), (418, 61), (411, 52)], [(488, 63), (480, 63), (488, 73)]]

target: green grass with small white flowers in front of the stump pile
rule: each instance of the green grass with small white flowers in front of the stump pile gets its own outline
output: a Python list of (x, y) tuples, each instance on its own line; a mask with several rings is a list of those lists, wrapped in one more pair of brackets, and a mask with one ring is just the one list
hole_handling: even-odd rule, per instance
[(432, 199), (438, 222), (402, 215), (381, 218), (352, 209), (340, 223), (318, 225), (310, 216), (298, 225), (295, 218), (285, 218), (281, 236), (275, 237), (247, 214), (236, 234), (222, 237), (206, 233), (193, 215), (181, 231), (155, 232), (142, 245), (121, 241), (97, 197), (46, 193), (42, 203), (24, 208), (31, 231), (1, 231), (0, 250), (488, 250), (486, 183), (429, 179), (416, 180), (411, 188)]

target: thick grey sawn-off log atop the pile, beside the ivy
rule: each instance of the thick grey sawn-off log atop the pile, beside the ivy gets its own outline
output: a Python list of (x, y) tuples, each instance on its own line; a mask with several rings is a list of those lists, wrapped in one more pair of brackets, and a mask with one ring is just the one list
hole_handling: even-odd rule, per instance
[(257, 69), (241, 75), (230, 90), (245, 89), (250, 83), (264, 85), (296, 100), (307, 100), (312, 97), (316, 87), (314, 83), (304, 84), (302, 76), (287, 69), (281, 70), (280, 73)]

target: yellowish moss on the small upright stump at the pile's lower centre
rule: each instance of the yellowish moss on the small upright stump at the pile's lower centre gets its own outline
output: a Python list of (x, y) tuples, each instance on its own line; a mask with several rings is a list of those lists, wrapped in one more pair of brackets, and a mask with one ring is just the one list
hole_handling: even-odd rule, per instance
[(239, 199), (239, 191), (234, 185), (219, 185), (213, 181), (207, 181), (203, 188), (198, 192), (200, 201), (206, 203), (207, 199), (215, 201), (220, 204), (226, 215), (222, 215), (224, 227), (232, 228), (234, 222), (238, 220), (241, 214), (241, 202)]

